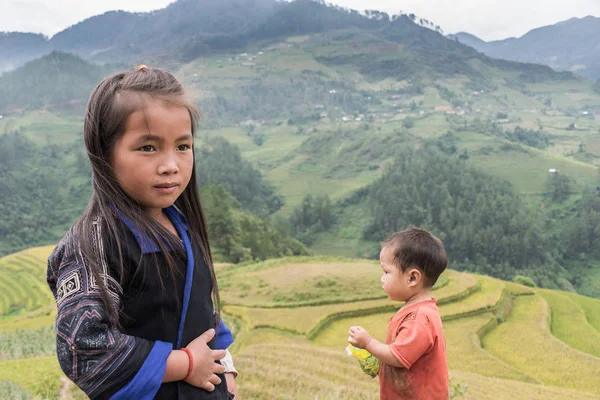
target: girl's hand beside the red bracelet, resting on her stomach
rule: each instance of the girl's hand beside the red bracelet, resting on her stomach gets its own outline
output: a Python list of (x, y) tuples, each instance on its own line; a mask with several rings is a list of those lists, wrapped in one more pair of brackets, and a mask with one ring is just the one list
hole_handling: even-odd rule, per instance
[(209, 329), (186, 346), (192, 352), (194, 367), (192, 376), (185, 382), (209, 392), (221, 383), (217, 374), (225, 372), (225, 367), (216, 362), (225, 357), (225, 350), (211, 350), (207, 345), (214, 336), (215, 330)]

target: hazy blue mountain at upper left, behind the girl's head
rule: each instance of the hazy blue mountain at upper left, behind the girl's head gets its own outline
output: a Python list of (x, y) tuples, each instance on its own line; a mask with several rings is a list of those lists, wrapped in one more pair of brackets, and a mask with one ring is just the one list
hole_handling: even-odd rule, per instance
[[(0, 71), (52, 50), (75, 53), (99, 62), (130, 61), (167, 52), (182, 42), (235, 35), (276, 7), (275, 0), (178, 0), (146, 13), (109, 11), (87, 18), (48, 39), (42, 35), (6, 32), (0, 36)], [(176, 53), (177, 51), (175, 51)]]

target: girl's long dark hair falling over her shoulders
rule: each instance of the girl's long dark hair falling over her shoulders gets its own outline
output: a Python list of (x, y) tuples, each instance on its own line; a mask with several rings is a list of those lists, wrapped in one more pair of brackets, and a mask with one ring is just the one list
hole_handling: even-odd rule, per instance
[[(107, 283), (101, 278), (102, 265), (98, 253), (98, 243), (91, 234), (95, 221), (101, 221), (102, 242), (107, 246), (117, 247), (121, 286), (127, 276), (113, 207), (117, 208), (137, 229), (147, 235), (148, 239), (159, 245), (167, 260), (167, 268), (172, 282), (175, 282), (180, 272), (175, 263), (177, 252), (167, 251), (167, 248), (175, 248), (180, 254), (185, 254), (181, 246), (177, 244), (174, 235), (153, 218), (149, 218), (142, 211), (140, 205), (125, 193), (118, 184), (111, 165), (115, 143), (124, 133), (128, 116), (134, 111), (142, 109), (149, 99), (161, 99), (185, 107), (189, 111), (192, 121), (192, 135), (195, 135), (200, 114), (186, 97), (182, 85), (172, 74), (146, 67), (139, 68), (137, 71), (116, 73), (100, 82), (90, 96), (84, 120), (85, 147), (92, 167), (92, 197), (83, 215), (75, 222), (73, 230), (82, 256), (100, 287), (102, 301), (108, 310), (110, 323), (115, 327), (121, 327), (120, 313), (109, 295)], [(219, 291), (210, 252), (206, 217), (200, 201), (195, 163), (190, 182), (175, 201), (175, 206), (186, 219), (192, 244), (195, 243), (200, 247), (210, 269), (213, 306), (217, 312), (218, 324)], [(175, 255), (171, 253), (175, 253)], [(156, 268), (164, 268), (164, 266), (156, 263)], [(161, 271), (158, 271), (157, 276), (163, 275)], [(164, 288), (162, 281), (161, 285)]]

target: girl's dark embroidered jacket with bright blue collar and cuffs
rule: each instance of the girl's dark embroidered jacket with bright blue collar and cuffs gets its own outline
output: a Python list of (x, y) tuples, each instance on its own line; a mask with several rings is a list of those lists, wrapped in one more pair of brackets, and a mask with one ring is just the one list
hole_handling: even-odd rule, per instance
[[(72, 232), (48, 259), (48, 285), (58, 307), (58, 361), (92, 399), (230, 399), (224, 376), (210, 393), (185, 382), (162, 384), (170, 352), (216, 328), (212, 281), (202, 251), (190, 244), (183, 216), (174, 207), (165, 211), (186, 250), (185, 257), (176, 257), (180, 274), (175, 281), (166, 271), (158, 276), (156, 263), (165, 265), (166, 261), (156, 243), (124, 217), (116, 217), (126, 272), (121, 287), (116, 245), (104, 242), (102, 221), (93, 225), (101, 277), (122, 310), (124, 332), (109, 324), (98, 284)], [(227, 348), (233, 342), (230, 331), (221, 323), (217, 332), (209, 346)]]

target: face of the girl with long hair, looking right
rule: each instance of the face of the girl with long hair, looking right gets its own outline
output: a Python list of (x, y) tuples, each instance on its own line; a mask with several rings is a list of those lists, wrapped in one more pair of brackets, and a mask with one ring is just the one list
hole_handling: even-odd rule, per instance
[(185, 107), (151, 99), (125, 122), (112, 166), (119, 185), (154, 218), (183, 193), (192, 176), (192, 121)]

